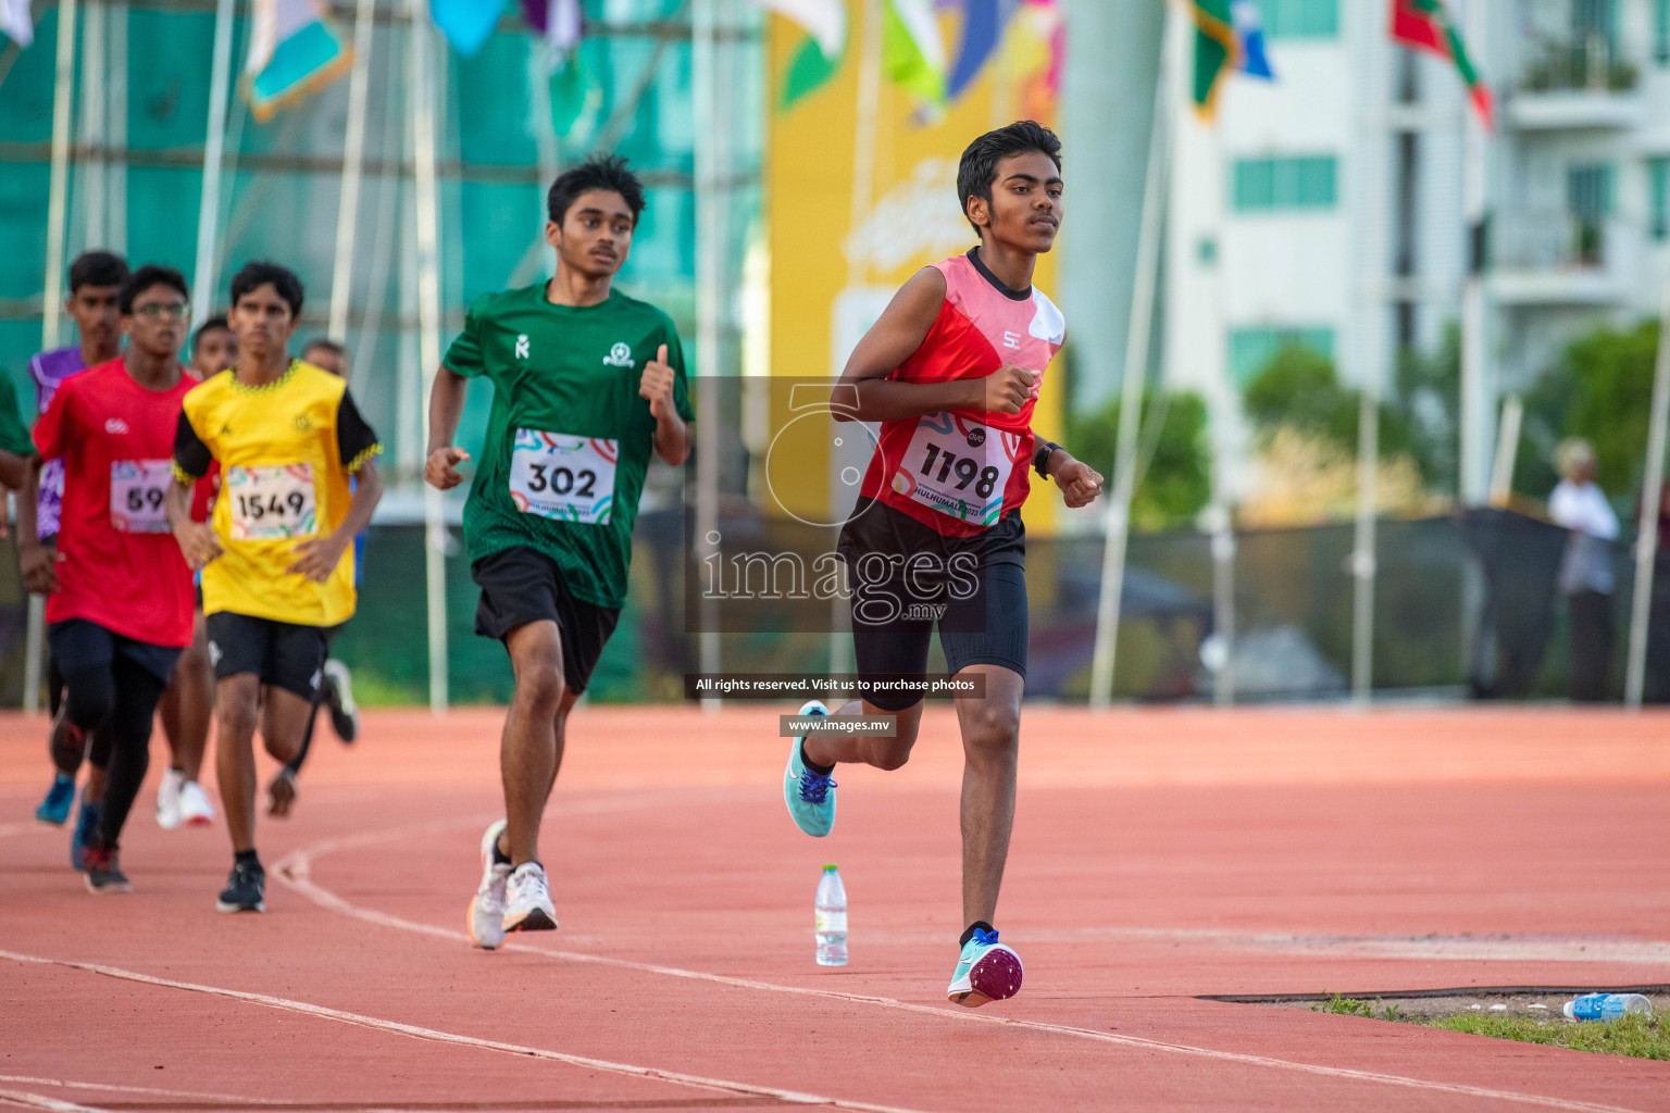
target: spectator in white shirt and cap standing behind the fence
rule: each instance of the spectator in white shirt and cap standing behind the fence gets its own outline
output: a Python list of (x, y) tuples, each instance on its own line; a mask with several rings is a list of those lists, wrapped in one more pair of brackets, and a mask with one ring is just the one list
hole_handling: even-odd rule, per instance
[(1595, 482), (1598, 467), (1588, 441), (1571, 437), (1555, 452), (1560, 482), (1548, 496), (1548, 516), (1571, 531), (1560, 559), (1560, 594), (1571, 612), (1570, 694), (1575, 701), (1602, 701), (1612, 674), (1612, 542), (1618, 516)]

